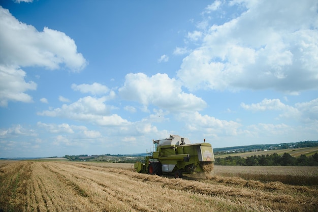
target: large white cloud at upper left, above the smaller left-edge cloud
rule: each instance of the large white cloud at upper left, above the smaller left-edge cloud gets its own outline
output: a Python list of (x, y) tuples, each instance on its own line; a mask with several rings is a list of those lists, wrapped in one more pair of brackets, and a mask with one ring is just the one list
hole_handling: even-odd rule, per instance
[[(38, 32), (0, 7), (0, 63), (58, 69), (65, 64), (71, 71), (83, 69), (87, 62), (65, 33), (44, 27)], [(23, 35), (23, 36), (21, 36)]]

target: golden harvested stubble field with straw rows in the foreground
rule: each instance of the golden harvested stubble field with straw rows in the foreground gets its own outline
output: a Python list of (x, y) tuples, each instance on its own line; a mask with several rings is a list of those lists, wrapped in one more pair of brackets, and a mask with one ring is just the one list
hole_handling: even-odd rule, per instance
[(130, 164), (0, 161), (0, 211), (318, 211), (316, 186), (221, 176), (218, 168), (174, 179)]

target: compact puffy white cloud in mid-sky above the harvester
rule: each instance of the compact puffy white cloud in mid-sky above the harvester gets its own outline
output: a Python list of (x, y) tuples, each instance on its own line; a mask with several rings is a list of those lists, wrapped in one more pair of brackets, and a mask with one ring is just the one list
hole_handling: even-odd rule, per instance
[(182, 92), (181, 84), (167, 74), (151, 77), (143, 73), (127, 74), (119, 89), (119, 95), (125, 100), (136, 101), (147, 107), (154, 106), (169, 111), (202, 110), (206, 102), (193, 94)]

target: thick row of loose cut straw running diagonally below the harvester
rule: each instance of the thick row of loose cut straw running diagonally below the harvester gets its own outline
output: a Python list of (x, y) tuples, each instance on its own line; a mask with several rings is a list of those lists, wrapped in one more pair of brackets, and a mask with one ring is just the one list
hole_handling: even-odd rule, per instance
[[(253, 199), (262, 199), (276, 202), (294, 202), (300, 204), (313, 204), (312, 198), (304, 198), (303, 200), (295, 199), (294, 197), (286, 194), (274, 195), (272, 194), (275, 190), (283, 190), (285, 188), (293, 190), (306, 190), (318, 197), (316, 190), (306, 189), (301, 186), (289, 186), (280, 183), (260, 183), (253, 180), (244, 180), (241, 178), (225, 177), (218, 179), (219, 184), (210, 184), (209, 180), (183, 180), (161, 177), (156, 175), (140, 174), (132, 172), (130, 170), (120, 170), (114, 168), (100, 168), (91, 167), (85, 165), (78, 165), (85, 169), (103, 170), (107, 172), (118, 173), (126, 176), (130, 176), (136, 179), (142, 179), (143, 181), (150, 181), (152, 183), (159, 183), (162, 187), (167, 187), (175, 190), (190, 191), (194, 193), (206, 194), (206, 195), (224, 195), (224, 196), (237, 196), (247, 197)], [(210, 180), (211, 181), (211, 180)], [(237, 187), (233, 187), (236, 185)]]

